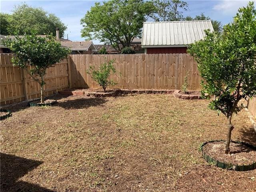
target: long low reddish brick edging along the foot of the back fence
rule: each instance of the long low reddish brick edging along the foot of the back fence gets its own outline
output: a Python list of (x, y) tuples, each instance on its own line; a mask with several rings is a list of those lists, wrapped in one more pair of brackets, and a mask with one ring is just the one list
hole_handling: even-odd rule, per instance
[[(96, 89), (95, 89), (96, 90)], [(91, 96), (91, 97), (114, 97), (117, 96), (118, 94), (171, 94), (173, 93), (174, 90), (128, 90), (128, 89), (113, 89), (109, 92), (95, 92), (95, 91), (72, 91), (72, 90), (62, 90), (59, 91), (59, 94), (62, 95), (74, 95), (74, 96), (79, 96), (79, 95), (86, 95), (86, 96)]]

